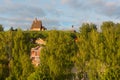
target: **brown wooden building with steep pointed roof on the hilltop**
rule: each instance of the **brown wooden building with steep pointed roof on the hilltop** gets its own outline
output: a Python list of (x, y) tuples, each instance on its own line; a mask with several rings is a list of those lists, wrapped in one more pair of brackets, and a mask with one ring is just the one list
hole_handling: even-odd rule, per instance
[(42, 21), (41, 20), (37, 20), (37, 18), (35, 18), (35, 20), (32, 23), (32, 26), (30, 28), (31, 31), (44, 31), (47, 30), (47, 28), (45, 28), (42, 25)]

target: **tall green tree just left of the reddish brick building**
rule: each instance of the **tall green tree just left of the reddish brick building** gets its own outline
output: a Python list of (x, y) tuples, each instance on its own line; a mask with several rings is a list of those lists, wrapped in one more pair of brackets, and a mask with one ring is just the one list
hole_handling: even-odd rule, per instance
[[(10, 74), (7, 80), (26, 80), (33, 72), (33, 67), (27, 52), (26, 37), (21, 30), (12, 32), (13, 46), (11, 52), (11, 60), (9, 62)], [(30, 50), (30, 49), (29, 49)]]

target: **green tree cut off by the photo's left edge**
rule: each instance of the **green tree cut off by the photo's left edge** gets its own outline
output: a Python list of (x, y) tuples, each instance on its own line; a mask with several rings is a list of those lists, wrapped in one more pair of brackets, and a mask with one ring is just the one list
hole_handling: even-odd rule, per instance
[(11, 33), (0, 32), (0, 79), (9, 76), (9, 53), (11, 52)]

